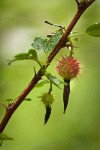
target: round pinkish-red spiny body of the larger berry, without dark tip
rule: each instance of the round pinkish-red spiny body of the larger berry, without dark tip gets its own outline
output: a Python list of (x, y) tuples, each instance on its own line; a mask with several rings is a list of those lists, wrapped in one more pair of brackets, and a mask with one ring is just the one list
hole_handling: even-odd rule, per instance
[(80, 62), (74, 57), (62, 57), (57, 62), (56, 71), (63, 78), (71, 80), (80, 73)]

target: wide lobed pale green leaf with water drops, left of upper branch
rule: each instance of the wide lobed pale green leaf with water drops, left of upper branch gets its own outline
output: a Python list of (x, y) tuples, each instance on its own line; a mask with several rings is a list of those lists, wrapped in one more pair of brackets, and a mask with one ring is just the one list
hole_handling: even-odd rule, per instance
[(45, 53), (53, 50), (54, 47), (58, 44), (63, 34), (63, 30), (57, 30), (53, 35), (51, 35), (48, 39), (43, 39), (41, 37), (36, 37), (34, 39), (34, 43), (32, 43), (32, 47), (38, 51), (44, 51)]

